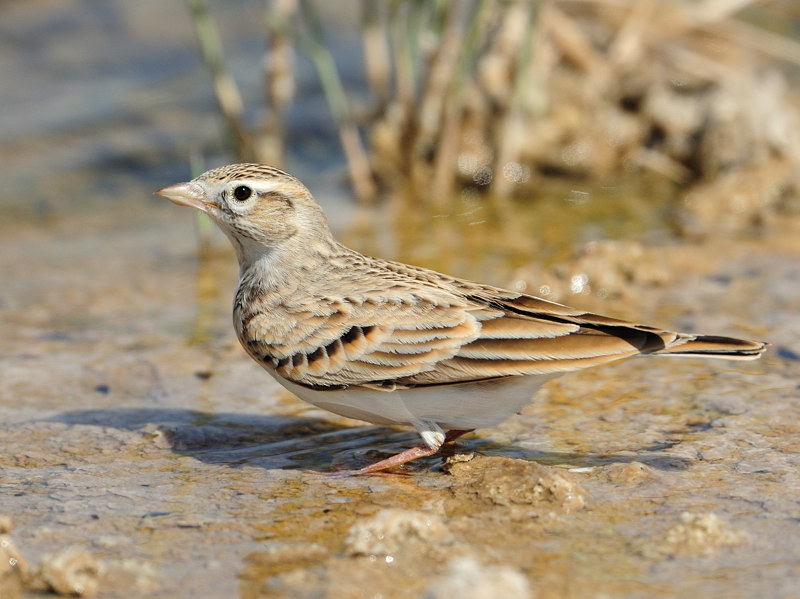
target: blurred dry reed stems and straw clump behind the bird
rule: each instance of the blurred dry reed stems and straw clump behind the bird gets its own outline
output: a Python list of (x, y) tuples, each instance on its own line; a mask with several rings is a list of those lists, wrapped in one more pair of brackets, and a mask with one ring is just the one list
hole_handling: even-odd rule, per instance
[(238, 157), (281, 163), (301, 52), (363, 201), (402, 190), (447, 202), (464, 187), (531, 195), (547, 177), (643, 172), (678, 187), (679, 224), (701, 236), (762, 224), (796, 202), (800, 113), (785, 74), (800, 61), (793, 3), (364, 0), (372, 105), (354, 114), (318, 3), (273, 0), (267, 118), (251, 128), (205, 0), (187, 2)]

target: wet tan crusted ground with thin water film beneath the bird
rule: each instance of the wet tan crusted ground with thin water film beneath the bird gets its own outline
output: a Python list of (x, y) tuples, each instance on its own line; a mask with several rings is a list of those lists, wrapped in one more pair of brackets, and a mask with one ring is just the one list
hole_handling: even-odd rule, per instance
[[(760, 362), (641, 359), (576, 373), (460, 441), (458, 453), (476, 454), (467, 473), (442, 472), (437, 457), (408, 476), (330, 479), (304, 470), (359, 465), (415, 435), (292, 399), (236, 346), (227, 301), (208, 316), (210, 340), (190, 342), (197, 268), (185, 215), (93, 241), (2, 243), (26, 257), (24, 273), (9, 263), (2, 273), (2, 511), (31, 562), (82, 547), (103, 564), (109, 597), (400, 597), (447, 579), (458, 556), (522, 573), (540, 597), (791, 596), (795, 255), (751, 246), (643, 294), (692, 307), (678, 319), (692, 328), (771, 340)], [(536, 463), (545, 470), (519, 470)], [(524, 492), (561, 473), (584, 506)], [(498, 485), (499, 496), (476, 491)], [(437, 516), (449, 540), (421, 543), (401, 527), (391, 563), (351, 555), (350, 529), (388, 508)], [(681, 532), (684, 512), (722, 528), (712, 519)]]

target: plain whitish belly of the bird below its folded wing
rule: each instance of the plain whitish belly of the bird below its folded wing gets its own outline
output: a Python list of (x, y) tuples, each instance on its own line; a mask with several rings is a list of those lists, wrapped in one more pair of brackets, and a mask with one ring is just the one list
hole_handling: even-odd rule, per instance
[(492, 427), (518, 413), (554, 375), (514, 376), (393, 391), (353, 387), (322, 391), (275, 378), (319, 408), (374, 424), (434, 422), (443, 429)]

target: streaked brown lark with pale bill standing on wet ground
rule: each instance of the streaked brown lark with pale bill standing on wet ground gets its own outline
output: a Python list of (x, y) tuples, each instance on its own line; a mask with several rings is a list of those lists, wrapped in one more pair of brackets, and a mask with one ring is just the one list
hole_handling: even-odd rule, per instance
[(253, 360), (319, 408), (419, 433), (419, 445), (348, 474), (396, 471), (497, 426), (566, 372), (638, 355), (750, 360), (768, 345), (366, 256), (336, 241), (306, 186), (272, 166), (221, 166), (155, 193), (204, 212), (233, 245), (233, 322)]

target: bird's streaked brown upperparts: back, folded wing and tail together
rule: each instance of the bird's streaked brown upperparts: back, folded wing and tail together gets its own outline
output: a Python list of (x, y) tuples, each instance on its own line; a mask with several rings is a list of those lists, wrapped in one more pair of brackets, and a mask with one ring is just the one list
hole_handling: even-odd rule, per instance
[[(764, 344), (677, 334), (338, 247), (306, 289), (240, 286), (247, 351), (314, 388), (555, 375), (639, 354), (751, 359)], [(257, 278), (250, 277), (245, 281)]]

